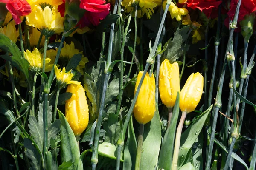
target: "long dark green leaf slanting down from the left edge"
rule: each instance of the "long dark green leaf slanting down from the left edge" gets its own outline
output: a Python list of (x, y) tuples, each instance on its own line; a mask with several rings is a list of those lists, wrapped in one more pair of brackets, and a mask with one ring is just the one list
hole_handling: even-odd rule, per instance
[(12, 54), (12, 57), (8, 55), (2, 55), (1, 57), (10, 61), (12, 66), (22, 71), (27, 81), (29, 81), (29, 62), (21, 57), (21, 52), (17, 45), (4, 34), (0, 34), (0, 48)]

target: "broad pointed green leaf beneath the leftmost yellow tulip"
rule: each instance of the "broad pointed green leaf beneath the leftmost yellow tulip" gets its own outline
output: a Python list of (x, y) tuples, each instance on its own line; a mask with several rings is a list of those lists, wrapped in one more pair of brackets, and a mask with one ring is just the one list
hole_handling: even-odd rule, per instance
[(59, 110), (58, 113), (61, 120), (61, 161), (68, 162), (71, 160), (73, 162), (71, 170), (83, 170), (82, 164), (79, 164), (81, 160), (79, 159), (80, 152), (76, 137), (65, 116)]

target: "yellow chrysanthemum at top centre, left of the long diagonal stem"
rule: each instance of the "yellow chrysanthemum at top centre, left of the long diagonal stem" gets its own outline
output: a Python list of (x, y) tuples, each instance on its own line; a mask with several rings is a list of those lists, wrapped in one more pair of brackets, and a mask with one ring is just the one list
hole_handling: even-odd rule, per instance
[(121, 5), (125, 7), (125, 12), (128, 13), (132, 13), (135, 9), (134, 6), (137, 6), (137, 17), (141, 18), (146, 14), (147, 18), (150, 19), (157, 3), (159, 3), (158, 0), (123, 0)]

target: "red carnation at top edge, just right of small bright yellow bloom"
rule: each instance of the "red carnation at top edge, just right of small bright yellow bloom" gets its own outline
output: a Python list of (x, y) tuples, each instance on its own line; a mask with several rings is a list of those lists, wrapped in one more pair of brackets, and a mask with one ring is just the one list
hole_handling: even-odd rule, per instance
[(217, 8), (221, 4), (221, 0), (188, 0), (187, 7), (195, 9), (198, 8), (201, 12), (209, 18), (212, 14), (212, 9)]

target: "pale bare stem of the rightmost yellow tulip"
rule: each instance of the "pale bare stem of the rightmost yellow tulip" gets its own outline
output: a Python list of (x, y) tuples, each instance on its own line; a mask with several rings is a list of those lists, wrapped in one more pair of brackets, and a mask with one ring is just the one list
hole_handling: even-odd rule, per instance
[(179, 150), (180, 150), (180, 137), (183, 128), (183, 124), (185, 122), (187, 113), (185, 111), (182, 112), (180, 122), (177, 128), (176, 137), (175, 137), (175, 145), (172, 159), (172, 170), (177, 170), (178, 166), (178, 158), (179, 158)]

